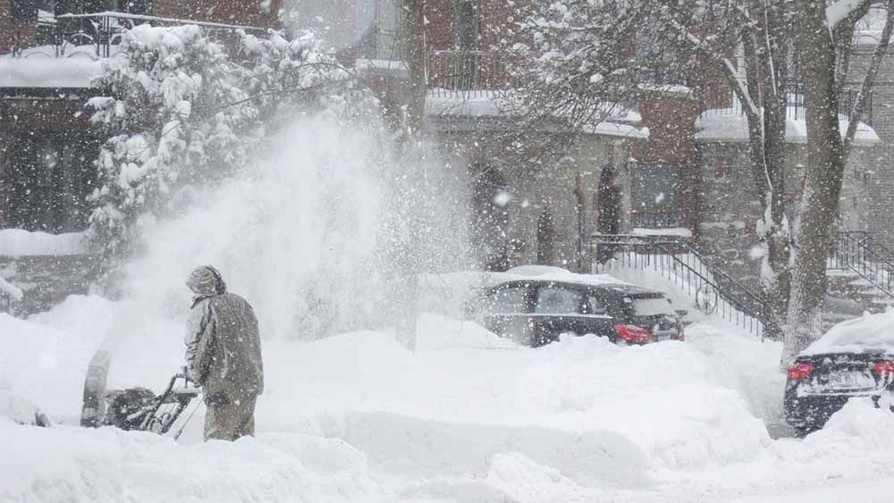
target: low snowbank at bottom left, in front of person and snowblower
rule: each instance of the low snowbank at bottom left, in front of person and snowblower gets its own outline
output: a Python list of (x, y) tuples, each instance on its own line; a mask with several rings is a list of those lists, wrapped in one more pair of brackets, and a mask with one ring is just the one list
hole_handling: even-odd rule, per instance
[(341, 440), (270, 434), (182, 448), (149, 433), (3, 422), (0, 439), (0, 501), (385, 500), (363, 454)]

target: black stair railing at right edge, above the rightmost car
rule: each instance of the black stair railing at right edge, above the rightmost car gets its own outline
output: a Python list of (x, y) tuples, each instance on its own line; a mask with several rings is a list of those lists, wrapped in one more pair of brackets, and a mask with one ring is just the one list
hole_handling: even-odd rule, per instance
[(867, 231), (839, 231), (829, 253), (828, 268), (856, 272), (871, 286), (894, 298), (894, 253), (876, 243)]

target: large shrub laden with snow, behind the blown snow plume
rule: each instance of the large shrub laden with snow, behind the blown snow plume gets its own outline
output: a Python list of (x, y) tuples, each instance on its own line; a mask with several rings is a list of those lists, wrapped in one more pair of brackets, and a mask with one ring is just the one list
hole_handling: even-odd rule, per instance
[(250, 168), (278, 111), (351, 108), (350, 75), (312, 35), (228, 35), (234, 51), (195, 25), (139, 25), (95, 82), (105, 96), (89, 100), (91, 121), (107, 139), (90, 230), (108, 254), (131, 251), (141, 218)]

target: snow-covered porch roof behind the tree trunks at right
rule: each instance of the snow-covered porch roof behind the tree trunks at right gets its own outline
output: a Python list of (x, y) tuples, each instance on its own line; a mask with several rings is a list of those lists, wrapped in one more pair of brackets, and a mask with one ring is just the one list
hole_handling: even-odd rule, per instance
[[(727, 113), (729, 109), (706, 110), (696, 119), (696, 141), (713, 142), (746, 142), (748, 141), (748, 122), (743, 113)], [(839, 129), (842, 136), (848, 130), (848, 118), (839, 115)], [(786, 142), (793, 144), (807, 143), (807, 124), (803, 113), (794, 113), (789, 107), (786, 117)], [(856, 127), (854, 145), (857, 147), (873, 147), (881, 142), (872, 126), (860, 122)]]

